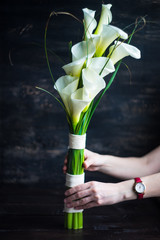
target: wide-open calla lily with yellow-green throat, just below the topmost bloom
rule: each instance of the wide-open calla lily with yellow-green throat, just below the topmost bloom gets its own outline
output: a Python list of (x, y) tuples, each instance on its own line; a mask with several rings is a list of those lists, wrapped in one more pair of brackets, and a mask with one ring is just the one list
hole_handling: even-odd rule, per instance
[(100, 36), (100, 42), (96, 49), (96, 56), (97, 57), (102, 56), (106, 48), (118, 37), (122, 39), (127, 39), (128, 34), (115, 26), (103, 25), (103, 30)]

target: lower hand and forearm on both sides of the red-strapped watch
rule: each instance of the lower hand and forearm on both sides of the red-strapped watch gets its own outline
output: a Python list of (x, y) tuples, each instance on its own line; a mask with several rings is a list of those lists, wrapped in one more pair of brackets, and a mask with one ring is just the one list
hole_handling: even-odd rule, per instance
[[(160, 173), (141, 179), (146, 186), (144, 198), (160, 197)], [(68, 208), (78, 210), (134, 200), (137, 198), (134, 183), (134, 179), (119, 183), (87, 182), (68, 189), (64, 202)]]

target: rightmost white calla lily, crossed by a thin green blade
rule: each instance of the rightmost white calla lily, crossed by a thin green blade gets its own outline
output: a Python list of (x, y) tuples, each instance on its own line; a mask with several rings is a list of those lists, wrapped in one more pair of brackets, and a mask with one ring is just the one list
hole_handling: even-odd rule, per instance
[(138, 48), (120, 41), (115, 41), (115, 44), (109, 48), (109, 55), (114, 64), (127, 56), (131, 56), (136, 59), (141, 58), (141, 52)]

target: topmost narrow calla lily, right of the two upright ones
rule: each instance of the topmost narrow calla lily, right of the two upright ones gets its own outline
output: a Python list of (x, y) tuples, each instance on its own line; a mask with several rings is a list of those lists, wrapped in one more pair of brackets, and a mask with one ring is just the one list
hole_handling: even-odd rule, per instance
[(112, 21), (111, 7), (112, 4), (102, 4), (100, 20), (94, 34), (101, 34), (103, 25), (108, 25)]

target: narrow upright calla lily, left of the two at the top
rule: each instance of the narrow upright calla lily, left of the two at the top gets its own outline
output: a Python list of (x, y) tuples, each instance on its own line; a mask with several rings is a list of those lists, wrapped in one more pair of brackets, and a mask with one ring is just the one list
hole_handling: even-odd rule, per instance
[(92, 11), (88, 8), (84, 8), (82, 10), (84, 13), (84, 25), (85, 25), (86, 37), (90, 38), (93, 30), (97, 26), (97, 21), (94, 18), (96, 11)]

